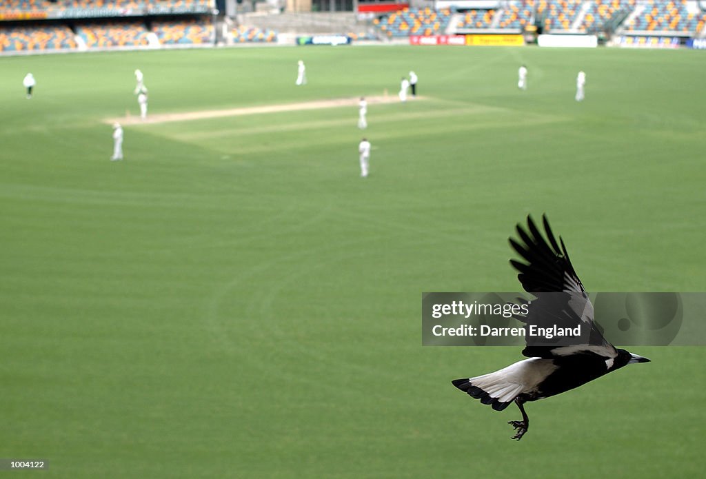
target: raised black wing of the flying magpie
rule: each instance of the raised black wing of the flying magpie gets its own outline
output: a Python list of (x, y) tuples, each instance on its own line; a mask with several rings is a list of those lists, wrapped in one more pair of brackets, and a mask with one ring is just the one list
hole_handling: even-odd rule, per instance
[[(617, 356), (616, 348), (603, 337), (594, 322), (593, 305), (581, 280), (569, 260), (566, 246), (559, 237), (557, 243), (546, 216), (542, 216), (546, 238), (531, 216), (527, 229), (517, 224), (519, 241), (510, 238), (510, 245), (525, 262), (510, 260), (517, 269), (522, 288), (536, 296), (530, 301), (528, 313), (520, 317), (527, 327), (527, 357), (561, 358), (576, 354), (591, 354), (610, 359)], [(560, 247), (561, 244), (561, 247)], [(575, 328), (582, 327), (580, 338), (558, 338), (555, 344), (530, 337), (530, 326)]]

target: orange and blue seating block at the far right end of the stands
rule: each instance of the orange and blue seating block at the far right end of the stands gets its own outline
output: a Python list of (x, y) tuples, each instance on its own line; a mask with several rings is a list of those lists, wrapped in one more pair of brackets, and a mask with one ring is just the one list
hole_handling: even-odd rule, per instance
[[(638, 8), (641, 8), (638, 11)], [(689, 11), (686, 0), (657, 1), (638, 3), (636, 15), (631, 16), (624, 26), (628, 33), (667, 33), (670, 35), (696, 35), (706, 24), (706, 14), (698, 8)]]

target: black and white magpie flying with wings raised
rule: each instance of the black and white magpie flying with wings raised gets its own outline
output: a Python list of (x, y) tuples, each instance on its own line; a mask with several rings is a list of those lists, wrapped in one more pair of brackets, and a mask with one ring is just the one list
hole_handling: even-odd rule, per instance
[[(515, 428), (512, 439), (518, 441), (530, 427), (523, 404), (537, 401), (579, 387), (625, 365), (650, 360), (615, 348), (594, 323), (593, 305), (587, 296), (561, 236), (556, 242), (546, 216), (542, 217), (546, 239), (527, 217), (527, 230), (517, 224), (520, 241), (510, 238), (510, 245), (525, 262), (510, 260), (517, 269), (522, 288), (537, 299), (528, 305), (528, 313), (517, 319), (526, 325), (581, 325), (587, 335), (580, 344), (544, 344), (526, 336), (522, 351), (529, 359), (486, 375), (454, 380), (453, 385), (496, 411), (517, 404), (522, 420), (510, 421)], [(525, 328), (528, 329), (528, 328)]]

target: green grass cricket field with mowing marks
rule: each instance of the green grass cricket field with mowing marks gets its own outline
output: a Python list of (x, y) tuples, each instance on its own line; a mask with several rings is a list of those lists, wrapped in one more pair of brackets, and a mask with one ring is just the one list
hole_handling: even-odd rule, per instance
[[(309, 84), (295, 87), (297, 60)], [(516, 87), (526, 63), (529, 90)], [(126, 126), (109, 116), (395, 95)], [(574, 102), (587, 73), (586, 100)], [(25, 99), (22, 78), (37, 78)], [(0, 458), (63, 478), (689, 478), (698, 347), (498, 413), (421, 346), (423, 291), (516, 291), (546, 212), (590, 291), (706, 291), (701, 51), (219, 49), (0, 59)], [(30, 474), (25, 474), (30, 475)]]

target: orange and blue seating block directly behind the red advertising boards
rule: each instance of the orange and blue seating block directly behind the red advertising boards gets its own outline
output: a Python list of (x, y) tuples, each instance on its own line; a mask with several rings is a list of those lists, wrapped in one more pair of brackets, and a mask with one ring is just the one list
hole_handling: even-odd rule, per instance
[(373, 24), (388, 37), (407, 37), (409, 35), (438, 35), (445, 32), (451, 18), (447, 8), (405, 8), (391, 13), (386, 20), (373, 20)]

